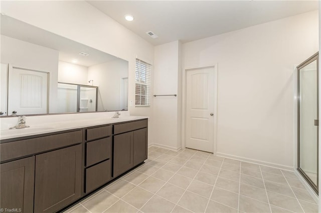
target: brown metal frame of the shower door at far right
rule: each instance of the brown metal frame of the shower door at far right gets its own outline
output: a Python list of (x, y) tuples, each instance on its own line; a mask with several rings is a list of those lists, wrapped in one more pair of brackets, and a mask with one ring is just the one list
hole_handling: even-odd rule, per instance
[[(300, 63), (298, 66), (296, 66), (296, 70), (297, 70), (297, 170), (298, 172), (302, 175), (302, 177), (307, 181), (307, 183), (311, 186), (311, 188), (316, 192), (316, 194), (318, 194), (318, 185), (319, 185), (319, 163), (318, 163), (318, 159), (319, 159), (319, 134), (318, 134), (318, 130), (319, 130), (319, 125), (317, 123), (316, 125), (316, 185), (315, 183), (307, 176), (307, 174), (305, 174), (305, 172), (303, 171), (303, 169), (300, 168), (300, 96), (299, 96), (299, 89), (300, 89), (300, 84), (299, 84), (299, 80), (300, 80), (300, 75), (299, 75), (299, 71), (301, 68), (303, 68), (304, 66), (306, 66), (307, 64), (311, 63), (312, 61), (316, 60), (316, 108), (317, 108), (317, 112), (316, 112), (316, 116), (317, 116), (317, 120), (319, 120), (319, 70), (318, 70), (318, 64), (319, 64), (319, 59), (318, 59), (318, 52), (316, 52), (315, 54), (313, 54), (312, 56), (310, 56), (309, 58), (307, 58), (305, 61), (303, 61), (302, 63)], [(317, 121), (318, 122), (318, 121)]]

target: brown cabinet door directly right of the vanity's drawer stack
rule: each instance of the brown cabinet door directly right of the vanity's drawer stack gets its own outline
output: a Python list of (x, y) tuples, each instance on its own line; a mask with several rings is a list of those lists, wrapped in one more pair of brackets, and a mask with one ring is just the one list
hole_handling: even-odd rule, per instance
[(114, 136), (113, 177), (133, 167), (133, 132)]

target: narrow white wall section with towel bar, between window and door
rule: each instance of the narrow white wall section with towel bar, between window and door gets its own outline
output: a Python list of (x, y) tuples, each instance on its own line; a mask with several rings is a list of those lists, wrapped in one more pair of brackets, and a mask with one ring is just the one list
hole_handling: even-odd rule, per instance
[(182, 145), (180, 49), (179, 41), (155, 46), (153, 66), (153, 94), (177, 94), (178, 96), (152, 96), (154, 127), (152, 142), (174, 150), (180, 149)]

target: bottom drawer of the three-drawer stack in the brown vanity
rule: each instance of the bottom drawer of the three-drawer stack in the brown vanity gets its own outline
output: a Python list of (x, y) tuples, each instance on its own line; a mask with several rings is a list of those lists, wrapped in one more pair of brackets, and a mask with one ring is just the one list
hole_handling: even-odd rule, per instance
[(105, 184), (111, 179), (111, 160), (86, 168), (85, 193)]

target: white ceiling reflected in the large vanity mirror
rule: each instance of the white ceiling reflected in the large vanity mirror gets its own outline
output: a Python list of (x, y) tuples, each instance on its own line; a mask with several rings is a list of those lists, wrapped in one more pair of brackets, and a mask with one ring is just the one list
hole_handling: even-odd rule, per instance
[[(56, 49), (59, 51), (59, 60), (83, 66), (92, 66), (117, 59), (117, 57), (106, 52), (86, 46), (15, 18), (1, 15), (0, 19), (1, 34)], [(82, 56), (79, 54), (80, 52), (86, 52), (89, 55)]]

